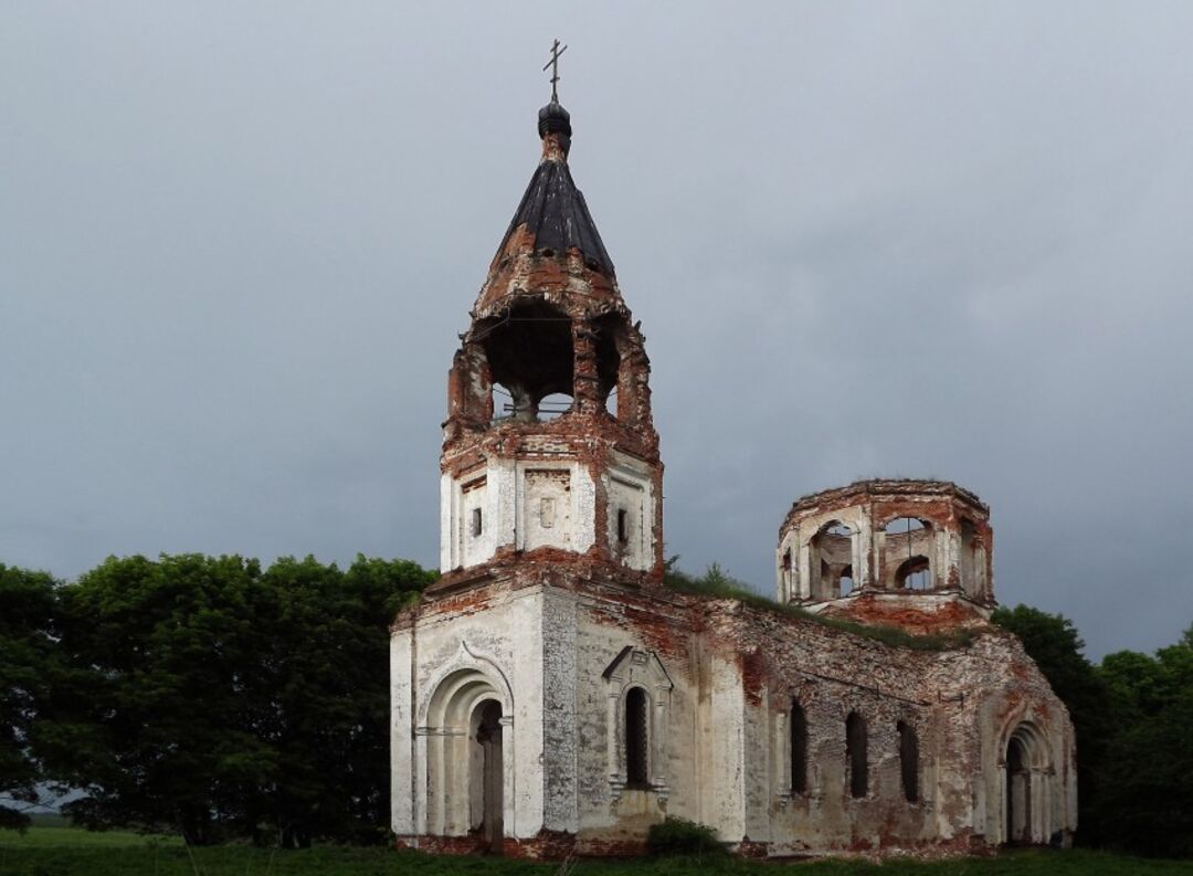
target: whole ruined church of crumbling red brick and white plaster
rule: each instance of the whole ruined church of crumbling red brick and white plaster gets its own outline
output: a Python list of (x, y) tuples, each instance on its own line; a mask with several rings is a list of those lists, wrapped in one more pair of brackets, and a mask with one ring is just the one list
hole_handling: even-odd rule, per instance
[(538, 132), (449, 371), (443, 576), (391, 630), (398, 841), (632, 855), (678, 816), (753, 856), (1068, 844), (1073, 726), (988, 621), (973, 493), (798, 499), (774, 606), (665, 582), (644, 338), (557, 100)]

